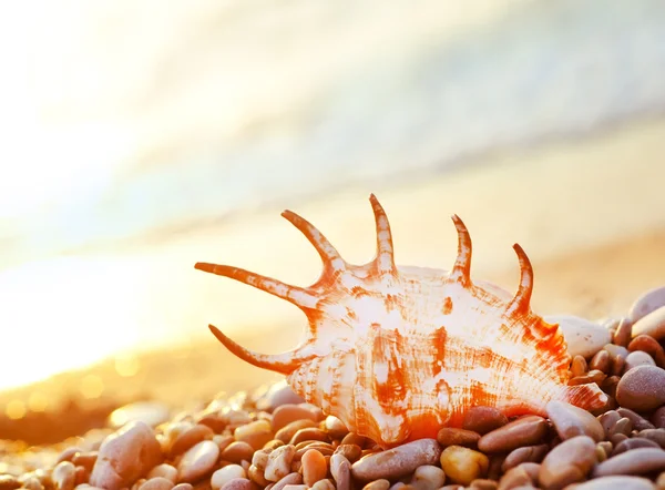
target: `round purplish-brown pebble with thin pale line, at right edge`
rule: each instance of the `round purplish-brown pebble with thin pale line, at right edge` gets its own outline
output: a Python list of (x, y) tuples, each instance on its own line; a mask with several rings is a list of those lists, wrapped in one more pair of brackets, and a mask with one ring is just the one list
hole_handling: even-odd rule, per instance
[(649, 411), (665, 404), (665, 369), (637, 366), (626, 371), (616, 386), (616, 401), (636, 411)]

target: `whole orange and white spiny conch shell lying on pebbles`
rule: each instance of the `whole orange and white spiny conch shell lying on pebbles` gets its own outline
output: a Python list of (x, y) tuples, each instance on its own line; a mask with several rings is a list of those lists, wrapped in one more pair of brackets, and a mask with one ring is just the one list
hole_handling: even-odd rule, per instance
[(196, 264), (286, 299), (309, 320), (304, 341), (284, 354), (247, 350), (211, 325), (217, 339), (241, 359), (286, 375), (308, 402), (385, 448), (459, 427), (473, 406), (497, 407), (510, 417), (544, 416), (550, 400), (589, 410), (606, 404), (597, 385), (566, 385), (565, 340), (559, 325), (531, 312), (533, 269), (520, 245), (513, 247), (521, 273), (514, 296), (471, 280), (471, 238), (458, 216), (450, 273), (398, 267), (388, 217), (374, 195), (370, 202), (377, 256), (362, 266), (344, 261), (310, 223), (283, 213), (324, 262), (323, 275), (307, 288)]

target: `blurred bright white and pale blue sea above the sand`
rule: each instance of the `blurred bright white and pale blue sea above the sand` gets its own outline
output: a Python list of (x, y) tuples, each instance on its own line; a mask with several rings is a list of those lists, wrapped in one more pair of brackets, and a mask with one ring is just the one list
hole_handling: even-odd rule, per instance
[(0, 7), (0, 387), (205, 325), (172, 239), (665, 113), (661, 0), (164, 6)]

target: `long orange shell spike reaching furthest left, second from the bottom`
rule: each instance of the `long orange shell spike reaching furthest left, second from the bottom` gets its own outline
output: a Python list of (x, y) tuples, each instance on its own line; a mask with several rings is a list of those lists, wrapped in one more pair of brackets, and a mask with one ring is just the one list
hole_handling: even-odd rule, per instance
[(208, 264), (198, 262), (194, 265), (198, 270), (203, 270), (218, 276), (229, 277), (241, 283), (254, 286), (257, 289), (265, 290), (274, 296), (286, 299), (300, 308), (316, 308), (318, 298), (306, 289), (290, 286), (270, 277), (265, 277), (259, 274), (252, 273), (238, 267), (228, 265)]

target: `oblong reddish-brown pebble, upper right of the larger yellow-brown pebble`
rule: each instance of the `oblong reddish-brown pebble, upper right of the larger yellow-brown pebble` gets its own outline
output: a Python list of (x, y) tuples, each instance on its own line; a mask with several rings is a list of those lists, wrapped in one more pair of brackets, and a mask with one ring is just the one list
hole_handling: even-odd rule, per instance
[(478, 441), (483, 452), (508, 452), (522, 446), (534, 446), (548, 433), (548, 422), (539, 416), (530, 415), (485, 433)]

